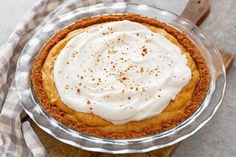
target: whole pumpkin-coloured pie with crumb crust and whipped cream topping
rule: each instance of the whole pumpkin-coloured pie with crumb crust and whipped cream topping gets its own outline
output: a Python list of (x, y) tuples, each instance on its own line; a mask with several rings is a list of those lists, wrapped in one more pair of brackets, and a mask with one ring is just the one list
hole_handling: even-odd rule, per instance
[(139, 138), (176, 127), (205, 98), (209, 71), (182, 31), (137, 14), (79, 20), (35, 58), (31, 82), (53, 118), (91, 136)]

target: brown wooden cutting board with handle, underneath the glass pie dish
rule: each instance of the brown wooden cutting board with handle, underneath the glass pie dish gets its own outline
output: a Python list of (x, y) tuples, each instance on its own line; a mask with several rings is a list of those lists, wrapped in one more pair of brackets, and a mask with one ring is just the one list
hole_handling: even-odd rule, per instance
[[(186, 8), (184, 9), (181, 16), (189, 19), (194, 24), (200, 24), (210, 11), (210, 0), (189, 0)], [(233, 63), (233, 55), (220, 51), (222, 59), (224, 61), (226, 70), (229, 70)], [(44, 145), (49, 157), (170, 157), (171, 154), (176, 150), (179, 144), (173, 146), (155, 150), (143, 154), (123, 154), (123, 155), (111, 155), (104, 153), (96, 153), (84, 151), (82, 149), (73, 147), (71, 145), (62, 143), (57, 139), (53, 138), (43, 130), (41, 130), (32, 120), (30, 123), (35, 130), (36, 134), (39, 136), (42, 144)]]

